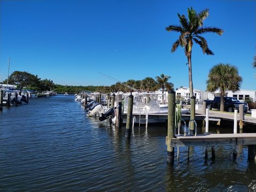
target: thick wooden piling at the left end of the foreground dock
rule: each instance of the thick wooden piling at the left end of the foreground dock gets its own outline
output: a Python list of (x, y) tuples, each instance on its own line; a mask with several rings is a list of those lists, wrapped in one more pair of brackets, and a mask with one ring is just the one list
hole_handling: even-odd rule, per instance
[(171, 139), (175, 137), (175, 91), (168, 92), (168, 131), (166, 137), (167, 163), (174, 164), (174, 147), (171, 147)]

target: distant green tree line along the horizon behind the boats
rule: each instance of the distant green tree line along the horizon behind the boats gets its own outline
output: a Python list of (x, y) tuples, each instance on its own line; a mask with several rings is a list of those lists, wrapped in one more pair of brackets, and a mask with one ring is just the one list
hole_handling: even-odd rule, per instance
[[(37, 75), (30, 74), (26, 71), (14, 71), (9, 79), (8, 84), (17, 85), (17, 89), (34, 90), (38, 92), (43, 91), (55, 91), (57, 93), (79, 93), (81, 91), (90, 92), (130, 92), (134, 90), (138, 91), (156, 91), (162, 89), (162, 91), (173, 89), (173, 84), (168, 82), (171, 77), (169, 75), (161, 74), (155, 79), (152, 77), (146, 77), (142, 80), (129, 79), (126, 82), (117, 82), (110, 86), (72, 86), (72, 85), (59, 85), (54, 84), (51, 79), (41, 79)], [(7, 79), (2, 83), (7, 84)]]

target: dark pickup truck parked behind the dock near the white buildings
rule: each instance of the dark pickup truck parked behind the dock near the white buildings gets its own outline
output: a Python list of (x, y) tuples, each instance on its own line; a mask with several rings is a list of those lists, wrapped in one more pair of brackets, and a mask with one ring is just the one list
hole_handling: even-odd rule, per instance
[[(213, 100), (204, 100), (206, 102), (207, 109), (220, 109), (220, 97), (215, 97)], [(248, 110), (248, 105), (246, 102), (241, 102), (233, 97), (224, 97), (224, 110), (228, 112), (233, 112), (235, 109), (239, 110), (239, 105), (244, 105), (244, 112)]]

